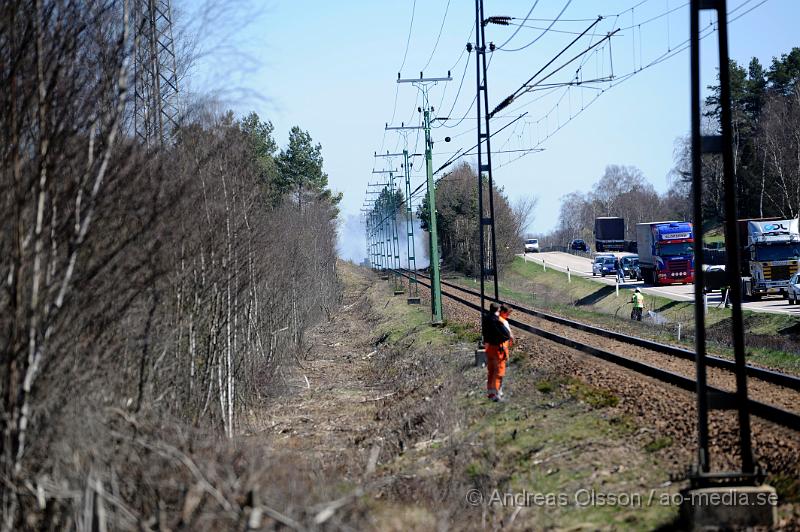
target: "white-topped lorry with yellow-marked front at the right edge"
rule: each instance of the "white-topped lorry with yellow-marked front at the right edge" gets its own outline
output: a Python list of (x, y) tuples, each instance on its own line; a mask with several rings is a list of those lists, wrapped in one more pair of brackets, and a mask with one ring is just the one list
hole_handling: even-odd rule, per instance
[(786, 295), (789, 278), (800, 269), (798, 221), (738, 220), (742, 292), (746, 298)]

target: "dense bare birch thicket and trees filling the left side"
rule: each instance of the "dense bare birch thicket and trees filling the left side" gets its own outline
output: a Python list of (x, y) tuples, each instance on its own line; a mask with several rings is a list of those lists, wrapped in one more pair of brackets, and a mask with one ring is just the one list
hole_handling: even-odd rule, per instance
[(139, 142), (129, 9), (0, 8), (2, 530), (236, 526), (213, 442), (340, 302), (321, 146), (191, 101)]

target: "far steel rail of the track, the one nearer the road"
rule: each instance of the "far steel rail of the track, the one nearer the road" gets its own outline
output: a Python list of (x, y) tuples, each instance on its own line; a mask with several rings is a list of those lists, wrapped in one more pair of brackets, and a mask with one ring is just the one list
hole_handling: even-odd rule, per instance
[[(422, 277), (426, 277), (424, 274), (418, 273)], [(478, 296), (478, 292), (470, 290), (469, 288), (465, 288), (463, 286), (458, 286), (453, 283), (448, 283), (446, 281), (442, 281), (442, 285), (449, 286), (451, 288), (455, 288), (456, 290), (460, 290), (464, 293)], [(496, 301), (493, 298), (487, 297), (492, 301)], [(501, 301), (497, 301), (500, 303)], [(626, 344), (635, 345), (638, 347), (643, 347), (645, 349), (650, 349), (651, 351), (657, 351), (659, 353), (664, 353), (666, 355), (671, 355), (677, 358), (683, 358), (686, 360), (691, 360), (692, 362), (695, 361), (695, 353), (688, 349), (683, 349), (681, 347), (675, 347), (672, 345), (662, 344), (660, 342), (654, 342), (653, 340), (647, 340), (645, 338), (639, 338), (637, 336), (630, 336), (623, 333), (618, 333), (615, 331), (609, 331), (607, 329), (601, 329), (600, 327), (595, 327), (593, 325), (588, 325), (585, 323), (573, 321), (567, 318), (562, 318), (560, 316), (554, 316), (553, 314), (548, 314), (546, 312), (541, 312), (538, 310), (529, 309), (527, 307), (523, 307), (522, 305), (511, 303), (509, 301), (502, 301), (509, 307), (522, 312), (523, 314), (528, 314), (529, 316), (534, 316), (536, 318), (542, 318), (547, 321), (552, 321), (553, 323), (558, 323), (560, 325), (565, 325), (567, 327), (571, 327), (573, 329), (578, 329), (581, 331), (585, 331), (592, 334), (597, 334), (599, 336), (604, 336), (606, 338), (612, 338), (614, 340), (619, 340), (620, 342), (624, 342)], [(735, 364), (732, 360), (727, 360), (717, 356), (706, 355), (706, 363), (707, 365), (715, 368), (725, 369), (728, 371), (735, 370)], [(756, 366), (747, 365), (747, 375), (749, 377), (754, 377), (756, 379), (762, 380), (764, 382), (769, 382), (770, 384), (776, 384), (778, 386), (782, 386), (784, 388), (789, 388), (791, 390), (800, 391), (800, 377), (796, 377), (794, 375), (788, 375), (786, 373), (781, 373), (779, 371), (774, 371), (771, 369), (766, 368), (759, 368)]]

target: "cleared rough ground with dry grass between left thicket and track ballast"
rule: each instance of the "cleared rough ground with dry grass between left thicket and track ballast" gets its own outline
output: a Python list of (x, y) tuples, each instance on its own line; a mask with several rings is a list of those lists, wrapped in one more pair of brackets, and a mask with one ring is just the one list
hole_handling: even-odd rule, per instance
[(569, 350), (524, 341), (509, 399), (489, 403), (473, 326), (433, 328), (424, 300), (407, 305), (372, 273), (341, 272), (342, 308), (309, 335), (240, 440), (266, 472), (253, 525), (675, 528), (684, 483), (671, 475), (685, 446), (602, 384), (541, 364), (546, 355), (574, 367)]

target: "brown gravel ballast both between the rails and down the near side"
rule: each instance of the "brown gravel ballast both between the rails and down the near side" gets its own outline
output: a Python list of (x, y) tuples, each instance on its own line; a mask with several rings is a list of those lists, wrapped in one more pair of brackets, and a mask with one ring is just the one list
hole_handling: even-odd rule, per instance
[[(443, 287), (443, 292), (453, 293), (468, 301), (473, 299), (477, 301), (477, 298), (449, 287)], [(423, 299), (427, 299), (428, 294), (424, 289), (420, 290), (420, 294)], [(447, 297), (443, 298), (443, 305), (448, 320), (479, 326), (479, 318), (474, 310)], [(669, 360), (669, 355), (655, 353), (583, 331), (570, 329), (569, 334), (564, 334), (567, 327), (547, 322), (541, 318), (523, 317), (520, 313), (516, 313), (513, 317), (556, 334), (568, 336), (576, 341), (693, 377), (694, 364), (691, 361), (676, 361), (674, 358)], [(583, 333), (583, 335), (578, 333)], [(693, 393), (534, 335), (518, 333), (517, 336), (519, 341), (516, 351), (533, 357), (536, 364), (542, 368), (543, 373), (576, 377), (592, 386), (610, 390), (619, 397), (618, 409), (634, 418), (640, 425), (652, 427), (652, 430), (658, 435), (670, 438), (673, 442), (670, 458), (675, 466), (674, 473), (676, 475), (682, 475), (686, 465), (694, 461), (697, 410)], [(689, 366), (691, 366), (691, 372), (689, 372)], [(713, 377), (709, 372), (709, 383), (720, 388), (732, 389), (732, 376), (724, 375), (723, 372), (724, 370), (714, 371)], [(797, 397), (798, 394), (785, 388), (776, 391), (773, 389), (775, 387), (776, 385), (759, 381), (757, 386), (751, 387), (751, 390), (755, 392), (751, 396), (754, 399), (784, 405), (784, 407), (791, 405), (791, 409), (796, 410), (798, 399), (800, 399)], [(762, 395), (765, 393), (767, 395)], [(777, 394), (780, 399), (773, 399), (772, 394)], [(790, 402), (792, 396), (794, 402)], [(738, 469), (739, 444), (735, 413), (713, 411), (710, 419), (712, 468), (717, 470)], [(754, 418), (752, 420), (752, 445), (756, 460), (766, 472), (773, 475), (786, 475), (788, 478), (794, 479), (800, 477), (800, 432)]]

